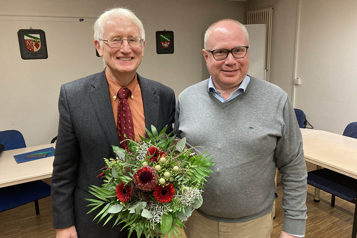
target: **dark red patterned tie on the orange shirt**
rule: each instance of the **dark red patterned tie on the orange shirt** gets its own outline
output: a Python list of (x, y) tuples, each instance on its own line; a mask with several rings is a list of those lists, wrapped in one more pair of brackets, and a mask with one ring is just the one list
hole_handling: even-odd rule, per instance
[[(118, 105), (118, 121), (116, 130), (118, 132), (119, 141), (124, 141), (124, 133), (128, 139), (135, 139), (134, 135), (134, 126), (133, 118), (131, 116), (131, 111), (128, 103), (128, 97), (130, 96), (131, 91), (129, 88), (120, 88), (118, 91), (119, 105)], [(124, 141), (120, 143), (120, 147), (126, 149), (127, 142)]]

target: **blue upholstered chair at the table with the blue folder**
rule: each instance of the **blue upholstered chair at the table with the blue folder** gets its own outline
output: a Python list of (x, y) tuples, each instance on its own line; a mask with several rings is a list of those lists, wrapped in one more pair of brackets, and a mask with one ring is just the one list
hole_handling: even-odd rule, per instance
[[(26, 147), (24, 137), (16, 130), (0, 131), (0, 144), (4, 151)], [(51, 186), (42, 180), (0, 188), (0, 212), (35, 202), (36, 214), (40, 214), (38, 200), (50, 195)]]

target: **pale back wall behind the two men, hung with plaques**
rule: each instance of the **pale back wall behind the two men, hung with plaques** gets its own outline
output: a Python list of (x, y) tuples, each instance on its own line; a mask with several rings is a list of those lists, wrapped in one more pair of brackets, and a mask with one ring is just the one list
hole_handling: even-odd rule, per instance
[[(225, 0), (39, 0), (36, 4), (2, 0), (0, 29), (6, 37), (0, 44), (3, 56), (0, 59), (0, 131), (21, 131), (27, 146), (49, 143), (57, 134), (60, 85), (102, 68), (101, 59), (94, 54), (94, 47), (90, 53), (71, 54), (71, 49), (80, 51), (78, 39), (83, 36), (83, 44), (91, 47), (93, 38), (89, 37), (92, 33), (88, 26), (80, 29), (80, 22), (72, 22), (74, 27), (68, 27), (69, 23), (64, 21), (49, 27), (49, 22), (4, 19), (8, 19), (9, 15), (92, 19), (115, 4), (129, 7), (144, 19), (146, 46), (139, 74), (172, 87), (176, 96), (202, 77), (206, 78), (205, 68), (202, 67), (202, 32), (212, 22), (226, 17), (245, 22), (247, 5), (246, 2)], [(17, 31), (30, 27), (46, 28), (48, 59), (21, 59)], [(84, 29), (85, 32), (81, 33)], [(174, 31), (174, 54), (156, 54), (155, 32), (164, 29)], [(51, 44), (55, 42), (55, 37), (61, 36), (64, 37), (63, 45)]]

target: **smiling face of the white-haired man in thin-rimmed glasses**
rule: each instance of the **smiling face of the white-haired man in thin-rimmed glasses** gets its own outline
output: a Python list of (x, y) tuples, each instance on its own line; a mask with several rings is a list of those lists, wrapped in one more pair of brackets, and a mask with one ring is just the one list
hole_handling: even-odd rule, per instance
[[(111, 19), (104, 25), (103, 40), (113, 36), (120, 36), (127, 39), (130, 36), (141, 36), (139, 28), (132, 22), (122, 22), (118, 19)], [(124, 75), (134, 75), (136, 69), (144, 56), (145, 41), (141, 42), (139, 47), (132, 47), (127, 40), (123, 41), (120, 47), (110, 47), (106, 41), (100, 42), (94, 40), (94, 44), (100, 56), (103, 56), (107, 64), (107, 71), (111, 76), (121, 77)]]

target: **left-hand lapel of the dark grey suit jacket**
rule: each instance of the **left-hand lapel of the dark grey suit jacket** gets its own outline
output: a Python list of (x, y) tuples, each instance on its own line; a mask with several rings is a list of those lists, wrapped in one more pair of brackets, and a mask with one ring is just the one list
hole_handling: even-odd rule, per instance
[(93, 88), (89, 92), (89, 97), (93, 103), (94, 110), (107, 141), (110, 146), (119, 146), (119, 138), (116, 132), (116, 125), (109, 98), (109, 88), (105, 76), (105, 70), (91, 83), (91, 85)]

